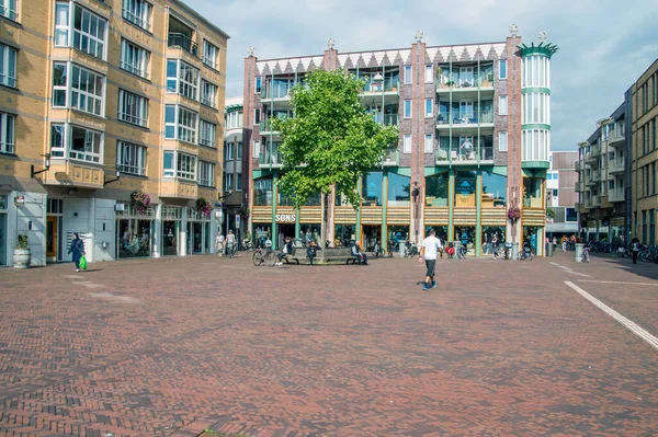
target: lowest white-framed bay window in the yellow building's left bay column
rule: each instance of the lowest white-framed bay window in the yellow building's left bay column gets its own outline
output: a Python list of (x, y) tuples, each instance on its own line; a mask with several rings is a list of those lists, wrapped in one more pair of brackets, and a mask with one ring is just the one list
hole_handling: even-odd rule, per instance
[(103, 133), (70, 124), (50, 125), (50, 154), (89, 162), (103, 162)]

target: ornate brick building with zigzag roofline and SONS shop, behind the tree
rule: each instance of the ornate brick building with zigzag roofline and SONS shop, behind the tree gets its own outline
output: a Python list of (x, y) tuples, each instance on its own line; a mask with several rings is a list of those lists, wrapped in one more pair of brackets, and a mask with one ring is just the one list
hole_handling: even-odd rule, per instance
[[(328, 239), (409, 239), (435, 228), (479, 255), (495, 234), (519, 242), (545, 234), (545, 179), (551, 149), (551, 57), (545, 42), (522, 45), (515, 26), (501, 42), (458, 46), (417, 43), (397, 49), (245, 59), (246, 206), (251, 230), (271, 235), (320, 231), (320, 196), (295, 210), (276, 183), (279, 133), (268, 119), (294, 116), (288, 91), (317, 68), (365, 78), (361, 95), (375, 120), (397, 125), (398, 147), (359, 182), (354, 210), (330, 196)], [(418, 189), (417, 189), (418, 188)], [(521, 219), (508, 219), (508, 209)], [(275, 239), (276, 241), (277, 239)], [(537, 250), (542, 252), (542, 244)]]

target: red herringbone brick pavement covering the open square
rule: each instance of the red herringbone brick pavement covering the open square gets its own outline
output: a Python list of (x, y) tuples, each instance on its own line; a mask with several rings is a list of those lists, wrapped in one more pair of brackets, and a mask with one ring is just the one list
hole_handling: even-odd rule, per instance
[(90, 267), (0, 271), (0, 436), (658, 435), (658, 350), (564, 284), (658, 335), (656, 266)]

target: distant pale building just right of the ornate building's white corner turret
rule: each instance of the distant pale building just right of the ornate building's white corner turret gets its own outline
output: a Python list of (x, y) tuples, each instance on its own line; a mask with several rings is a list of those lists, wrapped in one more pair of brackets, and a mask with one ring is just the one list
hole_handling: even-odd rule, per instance
[(576, 184), (578, 173), (577, 151), (556, 151), (548, 156), (551, 168), (546, 174), (546, 235), (548, 238), (571, 235), (578, 232), (578, 199)]

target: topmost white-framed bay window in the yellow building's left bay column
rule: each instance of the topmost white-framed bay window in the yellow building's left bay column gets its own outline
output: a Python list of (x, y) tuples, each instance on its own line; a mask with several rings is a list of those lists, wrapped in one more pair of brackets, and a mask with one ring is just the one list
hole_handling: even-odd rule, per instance
[[(72, 16), (72, 23), (70, 18)], [(76, 2), (55, 5), (55, 45), (69, 46), (100, 59), (106, 59), (107, 21)]]

